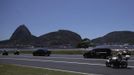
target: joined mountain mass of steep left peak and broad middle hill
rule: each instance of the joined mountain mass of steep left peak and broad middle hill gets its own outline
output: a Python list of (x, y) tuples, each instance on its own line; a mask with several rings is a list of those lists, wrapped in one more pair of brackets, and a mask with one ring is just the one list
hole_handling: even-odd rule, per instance
[(0, 41), (0, 47), (74, 48), (80, 41), (81, 36), (69, 30), (59, 30), (36, 37), (25, 25), (20, 25), (9, 40)]

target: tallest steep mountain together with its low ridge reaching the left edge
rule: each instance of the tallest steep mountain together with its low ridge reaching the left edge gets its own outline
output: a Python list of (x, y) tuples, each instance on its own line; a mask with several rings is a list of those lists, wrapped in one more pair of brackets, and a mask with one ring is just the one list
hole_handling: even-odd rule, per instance
[(25, 25), (20, 25), (12, 34), (9, 40), (0, 41), (0, 45), (19, 46), (31, 45), (36, 39)]

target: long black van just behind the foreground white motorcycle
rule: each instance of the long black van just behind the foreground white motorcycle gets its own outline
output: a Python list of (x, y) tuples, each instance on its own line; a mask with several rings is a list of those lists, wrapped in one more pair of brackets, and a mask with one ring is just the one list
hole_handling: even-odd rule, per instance
[(95, 48), (83, 54), (84, 58), (108, 58), (112, 56), (112, 50), (109, 48)]

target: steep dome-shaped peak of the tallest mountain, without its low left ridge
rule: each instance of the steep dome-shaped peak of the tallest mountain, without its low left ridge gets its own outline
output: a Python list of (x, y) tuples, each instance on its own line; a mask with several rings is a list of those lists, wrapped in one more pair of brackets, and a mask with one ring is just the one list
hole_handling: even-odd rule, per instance
[(14, 44), (30, 44), (36, 37), (31, 34), (25, 25), (20, 25), (10, 37)]

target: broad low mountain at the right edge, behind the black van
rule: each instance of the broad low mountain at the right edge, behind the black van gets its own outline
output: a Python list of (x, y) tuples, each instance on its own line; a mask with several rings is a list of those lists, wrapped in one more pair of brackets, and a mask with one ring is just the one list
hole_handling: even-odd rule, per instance
[(134, 44), (134, 32), (132, 31), (114, 31), (103, 37), (93, 39), (96, 44)]

